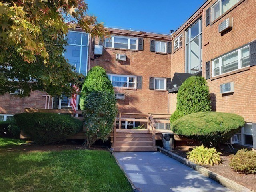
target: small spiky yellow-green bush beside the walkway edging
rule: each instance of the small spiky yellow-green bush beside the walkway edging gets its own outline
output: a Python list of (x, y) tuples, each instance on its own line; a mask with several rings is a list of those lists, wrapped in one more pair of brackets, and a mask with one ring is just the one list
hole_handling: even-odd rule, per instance
[(197, 146), (192, 151), (188, 152), (188, 160), (200, 165), (211, 165), (220, 164), (220, 152), (213, 148)]

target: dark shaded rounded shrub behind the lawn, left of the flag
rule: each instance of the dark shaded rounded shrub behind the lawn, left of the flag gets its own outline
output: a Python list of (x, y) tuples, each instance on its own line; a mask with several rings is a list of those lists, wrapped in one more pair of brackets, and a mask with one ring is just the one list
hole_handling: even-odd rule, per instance
[(50, 144), (75, 135), (83, 122), (57, 113), (20, 113), (14, 115), (18, 127), (38, 144)]

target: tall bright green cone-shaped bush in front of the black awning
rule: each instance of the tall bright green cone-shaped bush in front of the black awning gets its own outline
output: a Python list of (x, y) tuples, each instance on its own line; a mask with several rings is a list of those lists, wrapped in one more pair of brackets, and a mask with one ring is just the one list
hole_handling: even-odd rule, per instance
[(176, 111), (171, 123), (190, 113), (211, 111), (210, 92), (204, 77), (189, 77), (182, 83), (177, 94)]

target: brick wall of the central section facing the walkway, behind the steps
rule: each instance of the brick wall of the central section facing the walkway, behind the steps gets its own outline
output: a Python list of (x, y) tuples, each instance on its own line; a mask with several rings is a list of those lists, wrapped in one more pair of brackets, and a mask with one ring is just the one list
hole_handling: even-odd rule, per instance
[[(122, 34), (120, 33), (122, 32)], [(110, 31), (115, 35), (129, 36), (130, 31)], [(155, 34), (156, 35), (156, 34)], [(168, 92), (149, 89), (149, 77), (171, 77), (171, 54), (157, 54), (150, 52), (150, 40), (170, 41), (165, 38), (140, 36), (138, 33), (130, 35), (144, 39), (144, 51), (129, 51), (125, 49), (104, 48), (103, 55), (90, 61), (90, 68), (103, 67), (107, 73), (119, 75), (142, 76), (142, 89), (115, 89), (116, 93), (124, 93), (125, 100), (117, 100), (118, 109), (127, 113), (169, 113)], [(96, 44), (98, 39), (96, 38)], [(91, 51), (92, 52), (92, 51)], [(116, 53), (127, 55), (127, 61), (116, 61)], [(94, 57), (91, 54), (91, 57)]]

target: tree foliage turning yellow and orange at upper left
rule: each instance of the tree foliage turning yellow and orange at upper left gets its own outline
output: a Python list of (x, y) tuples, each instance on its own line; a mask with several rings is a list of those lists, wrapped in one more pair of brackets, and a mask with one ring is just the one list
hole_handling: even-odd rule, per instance
[(78, 26), (92, 36), (108, 36), (87, 10), (84, 0), (1, 1), (0, 94), (22, 89), (20, 95), (28, 96), (37, 89), (70, 95), (70, 83), (78, 84), (80, 76), (62, 55), (64, 35)]

